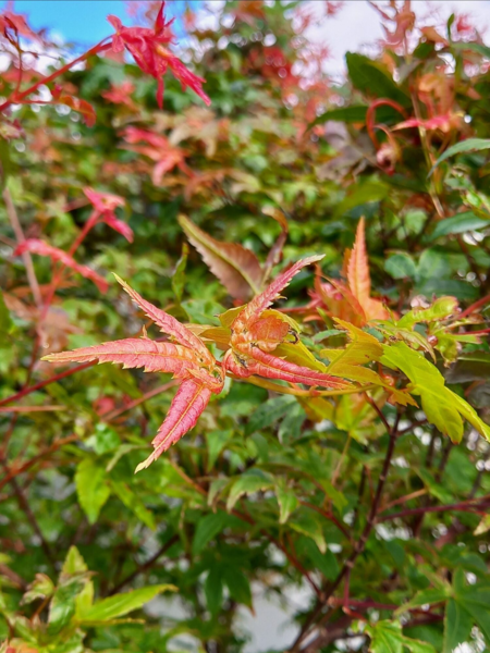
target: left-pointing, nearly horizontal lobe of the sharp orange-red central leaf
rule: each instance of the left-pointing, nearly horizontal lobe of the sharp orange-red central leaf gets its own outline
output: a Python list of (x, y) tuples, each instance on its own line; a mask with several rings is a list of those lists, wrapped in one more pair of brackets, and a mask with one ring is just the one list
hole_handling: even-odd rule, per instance
[(145, 368), (145, 372), (171, 372), (175, 379), (188, 377), (191, 369), (198, 369), (191, 349), (173, 343), (157, 343), (148, 337), (128, 337), (82, 347), (73, 352), (49, 354), (42, 360), (49, 362), (115, 362), (128, 368)]

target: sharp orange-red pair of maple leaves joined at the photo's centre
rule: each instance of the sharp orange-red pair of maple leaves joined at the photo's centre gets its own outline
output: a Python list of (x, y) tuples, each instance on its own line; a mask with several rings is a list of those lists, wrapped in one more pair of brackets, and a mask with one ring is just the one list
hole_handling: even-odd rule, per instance
[(280, 274), (264, 293), (241, 307), (231, 325), (231, 348), (221, 362), (216, 360), (204, 341), (189, 329), (146, 301), (118, 276), (124, 291), (145, 315), (170, 336), (170, 342), (152, 341), (145, 333), (144, 337), (139, 338), (125, 338), (73, 352), (50, 354), (42, 360), (57, 364), (91, 360), (115, 362), (124, 368), (144, 368), (146, 372), (170, 372), (181, 382), (169, 412), (152, 441), (154, 452), (138, 465), (136, 471), (139, 471), (196, 424), (211, 394), (220, 394), (222, 391), (226, 372), (242, 379), (257, 374), (310, 386), (350, 386), (341, 379), (271, 354), (279, 345), (287, 342), (289, 335), (293, 336), (294, 343), (297, 343), (298, 338), (297, 333), (291, 329), (291, 320), (281, 318), (281, 313), (275, 311), (271, 315), (267, 309), (302, 268), (321, 258), (316, 256), (298, 261)]

